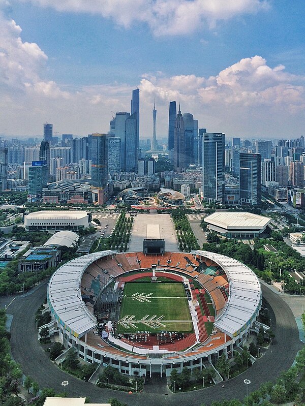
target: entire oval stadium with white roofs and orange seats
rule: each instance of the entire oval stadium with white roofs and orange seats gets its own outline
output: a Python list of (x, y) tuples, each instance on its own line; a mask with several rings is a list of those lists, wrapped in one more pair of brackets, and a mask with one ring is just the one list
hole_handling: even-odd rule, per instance
[(246, 342), (262, 293), (246, 265), (206, 251), (103, 251), (76, 258), (52, 275), (52, 322), (68, 349), (89, 363), (130, 376), (204, 368)]

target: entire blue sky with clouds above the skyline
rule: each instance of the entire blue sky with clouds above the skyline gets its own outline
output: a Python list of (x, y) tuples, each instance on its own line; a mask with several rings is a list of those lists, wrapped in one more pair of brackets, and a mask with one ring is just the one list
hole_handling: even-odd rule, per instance
[(229, 137), (303, 134), (301, 0), (0, 0), (0, 10), (0, 134), (41, 134), (45, 121), (107, 132), (136, 87), (143, 138), (154, 98), (157, 137), (171, 100)]

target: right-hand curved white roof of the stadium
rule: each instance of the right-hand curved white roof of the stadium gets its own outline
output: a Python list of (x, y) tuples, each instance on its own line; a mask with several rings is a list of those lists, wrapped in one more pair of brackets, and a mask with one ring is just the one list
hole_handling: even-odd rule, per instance
[(256, 317), (262, 296), (259, 280), (248, 266), (233, 258), (201, 250), (194, 251), (194, 254), (215, 261), (228, 277), (228, 301), (214, 324), (230, 337), (235, 337)]

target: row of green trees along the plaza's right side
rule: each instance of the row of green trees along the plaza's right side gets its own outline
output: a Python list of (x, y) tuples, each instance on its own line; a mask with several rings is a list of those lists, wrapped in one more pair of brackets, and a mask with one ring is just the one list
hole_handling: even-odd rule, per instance
[(180, 251), (199, 249), (200, 246), (185, 212), (180, 209), (172, 210), (171, 217), (175, 225)]

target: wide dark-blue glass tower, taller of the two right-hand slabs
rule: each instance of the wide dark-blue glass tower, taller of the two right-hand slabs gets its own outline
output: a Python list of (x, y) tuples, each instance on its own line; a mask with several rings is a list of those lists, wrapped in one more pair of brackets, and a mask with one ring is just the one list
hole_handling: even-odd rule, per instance
[(209, 203), (224, 204), (225, 194), (225, 134), (203, 134), (202, 192)]

